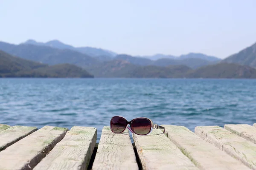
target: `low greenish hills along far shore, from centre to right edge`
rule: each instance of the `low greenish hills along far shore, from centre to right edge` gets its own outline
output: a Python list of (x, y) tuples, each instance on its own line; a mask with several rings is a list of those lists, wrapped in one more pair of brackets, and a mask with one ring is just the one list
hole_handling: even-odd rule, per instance
[(256, 69), (234, 63), (218, 63), (189, 68), (186, 65), (134, 65), (125, 60), (111, 60), (86, 68), (95, 77), (116, 78), (256, 78)]

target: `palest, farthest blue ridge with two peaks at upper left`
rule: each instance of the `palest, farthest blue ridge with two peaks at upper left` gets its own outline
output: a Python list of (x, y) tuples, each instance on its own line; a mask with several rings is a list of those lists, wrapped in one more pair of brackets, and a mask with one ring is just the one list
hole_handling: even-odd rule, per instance
[(96, 56), (109, 56), (109, 57), (114, 57), (117, 54), (109, 51), (109, 50), (103, 50), (101, 48), (93, 48), (93, 47), (73, 47), (71, 45), (64, 44), (63, 42), (60, 42), (58, 40), (51, 40), (49, 42), (43, 43), (43, 42), (36, 42), (35, 40), (27, 40), (26, 42), (23, 42), (22, 44), (30, 44), (30, 45), (45, 45), (49, 46), (52, 48), (58, 48), (58, 49), (69, 49), (73, 51), (78, 51), (83, 54), (87, 54), (91, 57), (96, 57)]

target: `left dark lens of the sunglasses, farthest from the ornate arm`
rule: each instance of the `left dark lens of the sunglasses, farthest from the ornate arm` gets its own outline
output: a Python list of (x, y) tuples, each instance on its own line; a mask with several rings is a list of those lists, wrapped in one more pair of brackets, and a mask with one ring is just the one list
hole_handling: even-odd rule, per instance
[(124, 118), (116, 116), (111, 119), (110, 125), (113, 133), (121, 133), (125, 130), (127, 124)]

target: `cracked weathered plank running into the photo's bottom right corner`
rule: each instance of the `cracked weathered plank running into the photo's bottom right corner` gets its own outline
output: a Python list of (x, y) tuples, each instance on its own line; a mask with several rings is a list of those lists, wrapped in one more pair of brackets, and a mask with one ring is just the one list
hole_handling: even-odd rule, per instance
[(256, 144), (219, 126), (197, 126), (195, 134), (256, 170)]

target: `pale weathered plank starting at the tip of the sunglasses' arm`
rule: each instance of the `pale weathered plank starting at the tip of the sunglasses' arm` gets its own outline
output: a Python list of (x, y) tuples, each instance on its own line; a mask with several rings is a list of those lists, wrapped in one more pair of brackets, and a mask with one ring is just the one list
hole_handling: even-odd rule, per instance
[(203, 170), (249, 170), (250, 168), (214, 145), (204, 141), (184, 126), (166, 127), (168, 138), (176, 144), (197, 167)]

